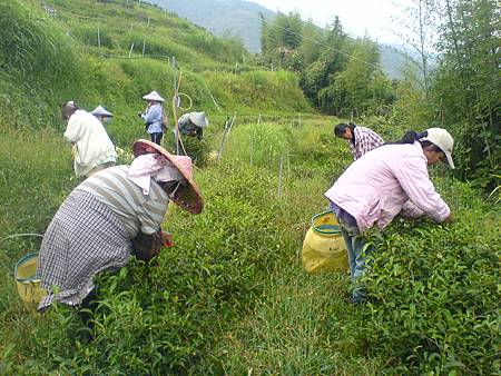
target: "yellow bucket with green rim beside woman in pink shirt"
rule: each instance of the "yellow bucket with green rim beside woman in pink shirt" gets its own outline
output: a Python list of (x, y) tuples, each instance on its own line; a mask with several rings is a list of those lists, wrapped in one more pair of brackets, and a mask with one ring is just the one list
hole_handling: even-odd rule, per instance
[(328, 210), (313, 216), (301, 254), (306, 273), (345, 271), (348, 268), (346, 246), (334, 214)]

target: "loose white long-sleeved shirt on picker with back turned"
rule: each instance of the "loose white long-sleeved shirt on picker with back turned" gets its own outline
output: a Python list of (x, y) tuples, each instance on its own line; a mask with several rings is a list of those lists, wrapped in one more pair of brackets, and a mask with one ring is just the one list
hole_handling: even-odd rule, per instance
[(115, 162), (117, 152), (102, 123), (91, 113), (77, 110), (68, 120), (65, 140), (76, 146), (75, 174), (86, 176), (94, 168)]

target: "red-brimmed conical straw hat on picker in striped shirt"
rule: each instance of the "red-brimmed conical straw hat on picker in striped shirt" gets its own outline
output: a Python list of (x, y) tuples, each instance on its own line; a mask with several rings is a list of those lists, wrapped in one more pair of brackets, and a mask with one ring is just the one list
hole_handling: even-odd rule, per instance
[(180, 185), (170, 199), (179, 205), (183, 209), (191, 212), (199, 214), (204, 208), (204, 201), (198, 190), (197, 185), (193, 180), (193, 165), (191, 158), (186, 156), (175, 156), (164, 149), (161, 146), (147, 141), (137, 140), (132, 146), (134, 156), (138, 157), (145, 154), (158, 154), (165, 157), (170, 164), (176, 167), (183, 177), (188, 182), (187, 185)]

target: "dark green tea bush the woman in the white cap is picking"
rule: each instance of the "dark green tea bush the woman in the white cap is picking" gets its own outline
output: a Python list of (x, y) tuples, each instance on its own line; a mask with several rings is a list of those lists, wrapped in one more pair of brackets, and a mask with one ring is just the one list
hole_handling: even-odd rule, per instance
[(372, 353), (390, 355), (392, 373), (495, 374), (500, 212), (463, 184), (439, 182), (454, 224), (402, 220), (373, 238), (374, 300), (361, 329)]

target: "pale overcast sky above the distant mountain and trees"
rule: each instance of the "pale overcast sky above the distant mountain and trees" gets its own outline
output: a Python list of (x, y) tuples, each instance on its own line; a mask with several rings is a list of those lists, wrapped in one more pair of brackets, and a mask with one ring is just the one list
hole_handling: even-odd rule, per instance
[(373, 40), (401, 43), (395, 36), (397, 23), (392, 18), (403, 19), (404, 6), (410, 0), (249, 0), (273, 11), (297, 10), (303, 19), (325, 27), (334, 16), (338, 16), (344, 30), (352, 37), (363, 37), (365, 32)]

